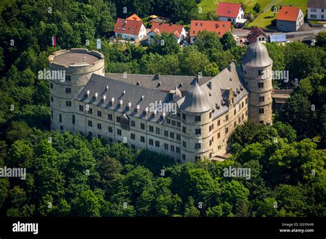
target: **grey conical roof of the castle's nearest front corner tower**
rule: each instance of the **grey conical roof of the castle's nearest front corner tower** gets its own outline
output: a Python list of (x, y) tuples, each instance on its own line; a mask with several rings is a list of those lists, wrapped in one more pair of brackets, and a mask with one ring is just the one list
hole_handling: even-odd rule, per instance
[(191, 89), (186, 93), (184, 102), (182, 102), (180, 109), (192, 113), (206, 112), (211, 109), (206, 93), (199, 87), (196, 82)]

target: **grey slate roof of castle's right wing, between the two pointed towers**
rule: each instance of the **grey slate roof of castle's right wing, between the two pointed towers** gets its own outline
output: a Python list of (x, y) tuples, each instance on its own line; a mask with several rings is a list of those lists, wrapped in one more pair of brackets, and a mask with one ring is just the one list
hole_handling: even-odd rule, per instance
[[(207, 95), (210, 107), (214, 109), (213, 118), (219, 117), (219, 115), (223, 115), (229, 110), (227, 98), (230, 89), (232, 89), (234, 95), (234, 104), (238, 104), (243, 97), (248, 95), (242, 72), (242, 68), (232, 62), (229, 67), (226, 67), (217, 76), (201, 85), (201, 89)], [(183, 101), (184, 98), (179, 100), (178, 104), (181, 105)]]

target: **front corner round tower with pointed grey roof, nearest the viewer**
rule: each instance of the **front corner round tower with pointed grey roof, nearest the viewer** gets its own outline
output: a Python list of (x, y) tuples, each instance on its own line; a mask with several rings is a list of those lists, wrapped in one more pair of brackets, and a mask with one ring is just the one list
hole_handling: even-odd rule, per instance
[(212, 124), (212, 107), (208, 102), (206, 93), (195, 82), (184, 97), (180, 105), (182, 119), (182, 154), (187, 161), (199, 158), (209, 158), (212, 146), (210, 139), (212, 133), (209, 126)]

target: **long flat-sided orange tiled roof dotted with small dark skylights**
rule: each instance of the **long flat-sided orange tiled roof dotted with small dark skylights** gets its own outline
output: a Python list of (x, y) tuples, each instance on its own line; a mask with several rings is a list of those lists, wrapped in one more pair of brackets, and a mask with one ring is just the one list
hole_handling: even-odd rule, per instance
[(191, 29), (189, 32), (191, 43), (195, 41), (198, 32), (203, 32), (204, 30), (208, 32), (216, 32), (221, 37), (226, 32), (230, 32), (231, 22), (191, 20)]

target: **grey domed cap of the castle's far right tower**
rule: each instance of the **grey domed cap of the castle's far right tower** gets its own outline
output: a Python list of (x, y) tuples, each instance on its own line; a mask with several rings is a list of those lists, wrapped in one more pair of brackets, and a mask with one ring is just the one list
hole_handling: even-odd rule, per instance
[(267, 48), (258, 40), (249, 45), (246, 56), (242, 59), (242, 64), (247, 67), (268, 67), (272, 63)]

